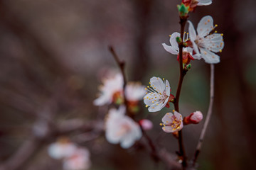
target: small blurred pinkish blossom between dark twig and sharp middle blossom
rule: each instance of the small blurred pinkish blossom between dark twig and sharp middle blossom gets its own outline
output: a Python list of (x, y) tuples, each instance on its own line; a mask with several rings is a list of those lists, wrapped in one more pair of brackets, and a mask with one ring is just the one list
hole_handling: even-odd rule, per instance
[(129, 82), (125, 87), (125, 97), (127, 101), (136, 102), (142, 100), (146, 93), (146, 86), (143, 86), (139, 82)]

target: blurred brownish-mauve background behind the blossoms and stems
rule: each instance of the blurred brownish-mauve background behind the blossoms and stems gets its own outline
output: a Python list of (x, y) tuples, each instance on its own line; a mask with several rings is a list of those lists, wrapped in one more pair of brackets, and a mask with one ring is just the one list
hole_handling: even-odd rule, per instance
[[(180, 30), (180, 2), (0, 0), (0, 167), (62, 169), (47, 148), (65, 135), (90, 150), (90, 169), (165, 169), (144, 147), (122, 149), (108, 143), (102, 132), (107, 108), (93, 106), (92, 101), (105, 73), (119, 71), (109, 45), (126, 62), (129, 81), (146, 85), (153, 76), (164, 77), (175, 94), (178, 62), (161, 43), (169, 44), (169, 35)], [(213, 0), (190, 13), (194, 26), (203, 16), (213, 16), (225, 40), (215, 65), (213, 118), (198, 169), (255, 167), (254, 6), (253, 0)], [(180, 110), (183, 115), (202, 111), (206, 116), (210, 65), (203, 60), (191, 64)], [(142, 111), (137, 119), (153, 121), (154, 130), (148, 132), (153, 142), (175, 153), (178, 142), (159, 126), (169, 110), (149, 114), (143, 106)], [(188, 158), (193, 157), (202, 126), (183, 129)]]

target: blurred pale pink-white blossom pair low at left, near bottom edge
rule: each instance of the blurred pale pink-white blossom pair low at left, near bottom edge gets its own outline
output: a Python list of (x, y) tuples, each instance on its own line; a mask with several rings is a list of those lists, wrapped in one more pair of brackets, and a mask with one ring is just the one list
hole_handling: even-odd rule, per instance
[(48, 154), (53, 159), (62, 159), (64, 170), (85, 170), (91, 166), (89, 150), (76, 146), (67, 138), (61, 138), (51, 144)]

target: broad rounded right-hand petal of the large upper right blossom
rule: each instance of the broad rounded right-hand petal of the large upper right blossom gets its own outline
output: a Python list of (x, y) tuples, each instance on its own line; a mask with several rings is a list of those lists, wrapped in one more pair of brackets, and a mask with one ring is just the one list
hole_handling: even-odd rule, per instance
[(223, 36), (219, 33), (214, 33), (212, 35), (208, 35), (205, 39), (205, 46), (208, 50), (212, 52), (220, 52), (220, 50), (223, 50), (224, 42), (223, 42)]

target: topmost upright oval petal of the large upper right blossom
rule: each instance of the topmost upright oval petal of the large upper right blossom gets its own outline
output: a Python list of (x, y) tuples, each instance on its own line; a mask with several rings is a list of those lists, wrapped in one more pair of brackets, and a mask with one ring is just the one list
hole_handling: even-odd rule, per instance
[(197, 27), (198, 36), (203, 38), (213, 30), (213, 18), (211, 16), (204, 16), (198, 23)]

